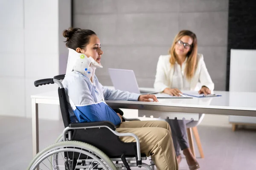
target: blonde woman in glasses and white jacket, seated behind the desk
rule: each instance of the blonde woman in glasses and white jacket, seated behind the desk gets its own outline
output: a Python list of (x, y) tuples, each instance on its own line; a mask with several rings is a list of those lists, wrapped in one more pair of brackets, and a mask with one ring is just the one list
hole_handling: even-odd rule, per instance
[[(197, 38), (188, 30), (180, 31), (169, 49), (169, 55), (160, 56), (157, 63), (157, 73), (154, 82), (156, 91), (161, 91), (172, 96), (180, 96), (182, 90), (197, 90), (199, 94), (210, 94), (214, 84), (207, 71), (202, 54), (197, 53)], [(172, 128), (172, 139), (178, 163), (181, 160), (180, 147), (186, 156), (190, 170), (199, 168), (186, 138), (186, 121), (169, 120)]]

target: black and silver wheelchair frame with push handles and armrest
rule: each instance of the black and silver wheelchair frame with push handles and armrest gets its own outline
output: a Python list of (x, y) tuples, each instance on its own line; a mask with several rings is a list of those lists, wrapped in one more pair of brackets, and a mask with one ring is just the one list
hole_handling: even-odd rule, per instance
[[(67, 108), (67, 106), (68, 106), (67, 98), (66, 98), (63, 84), (60, 81), (61, 79), (64, 79), (64, 77), (65, 77), (65, 74), (62, 74), (62, 75), (55, 76), (54, 78), (40, 79), (40, 80), (37, 80), (34, 82), (34, 85), (36, 87), (38, 87), (39, 85), (47, 85), (47, 84), (54, 84), (54, 83), (58, 85), (58, 94), (59, 94), (61, 115), (62, 115), (62, 119), (64, 122), (64, 127), (65, 127), (65, 129), (62, 132), (63, 141), (64, 142), (65, 141), (76, 141), (76, 140), (72, 139), (72, 138), (76, 138), (76, 136), (74, 137), (74, 133), (73, 133), (74, 130), (89, 130), (89, 129), (96, 129), (96, 128), (97, 129), (108, 129), (111, 133), (113, 133), (116, 136), (116, 138), (117, 138), (116, 143), (118, 143), (117, 145), (121, 144), (120, 146), (122, 146), (122, 143), (123, 143), (124, 144), (123, 146), (126, 148), (136, 147), (136, 152), (134, 152), (134, 154), (132, 156), (129, 155), (128, 157), (125, 156), (125, 153), (121, 153), (121, 155), (119, 155), (118, 157), (111, 157), (110, 155), (106, 154), (111, 159), (111, 161), (116, 161), (116, 163), (114, 163), (116, 168), (122, 169), (123, 167), (125, 167), (125, 168), (127, 168), (127, 170), (131, 170), (130, 167), (145, 167), (147, 170), (154, 170), (153, 161), (151, 161), (151, 165), (142, 163), (142, 160), (146, 160), (146, 156), (145, 156), (145, 154), (143, 154), (143, 156), (141, 156), (140, 140), (134, 133), (118, 133), (115, 131), (116, 127), (113, 125), (113, 123), (108, 122), (108, 121), (70, 123), (69, 112), (68, 112), (68, 108)], [(124, 118), (124, 119), (126, 121), (140, 120), (140, 119), (126, 119), (126, 118)], [(131, 143), (121, 142), (121, 140), (119, 139), (118, 136), (132, 136), (135, 138), (136, 144), (134, 144), (135, 142), (131, 142)], [(112, 138), (113, 138), (113, 136), (112, 136)], [(57, 141), (61, 141), (60, 137), (57, 139)], [(84, 142), (84, 141), (82, 141), (82, 142)], [(85, 142), (85, 143), (87, 143), (87, 142)], [(91, 145), (94, 146), (94, 144), (91, 144)], [(101, 149), (99, 149), (99, 150), (101, 150)], [(131, 153), (131, 151), (130, 151), (130, 153)], [(38, 154), (43, 155), (44, 153), (38, 153)], [(115, 152), (115, 154), (116, 154), (116, 152)], [(31, 170), (31, 169), (34, 170), (36, 168), (35, 164), (38, 164), (38, 162), (35, 162), (35, 161), (37, 161), (36, 158), (38, 158), (38, 157), (40, 157), (40, 156), (38, 156), (38, 155), (35, 156), (32, 163), (30, 164), (29, 170)], [(119, 161), (122, 161), (122, 163), (119, 163)], [(130, 161), (136, 161), (136, 163), (131, 163)], [(150, 166), (152, 167), (152, 169)]]

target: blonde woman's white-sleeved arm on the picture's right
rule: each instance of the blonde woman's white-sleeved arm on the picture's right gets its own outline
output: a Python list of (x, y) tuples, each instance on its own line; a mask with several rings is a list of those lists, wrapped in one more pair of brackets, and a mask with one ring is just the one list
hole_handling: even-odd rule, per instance
[(211, 79), (211, 77), (208, 73), (208, 70), (206, 68), (203, 55), (201, 57), (200, 63), (201, 63), (201, 71), (200, 71), (199, 80), (202, 84), (202, 87), (205, 86), (205, 87), (209, 88), (210, 91), (213, 91), (214, 83), (212, 82), (212, 79)]

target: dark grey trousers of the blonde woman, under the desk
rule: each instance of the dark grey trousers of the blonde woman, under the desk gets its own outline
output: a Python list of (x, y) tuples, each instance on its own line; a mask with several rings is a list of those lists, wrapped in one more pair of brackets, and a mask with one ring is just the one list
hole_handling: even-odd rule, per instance
[(189, 148), (188, 139), (186, 136), (186, 120), (167, 119), (166, 120), (171, 126), (172, 140), (175, 148), (176, 156), (180, 155), (180, 149), (184, 150)]

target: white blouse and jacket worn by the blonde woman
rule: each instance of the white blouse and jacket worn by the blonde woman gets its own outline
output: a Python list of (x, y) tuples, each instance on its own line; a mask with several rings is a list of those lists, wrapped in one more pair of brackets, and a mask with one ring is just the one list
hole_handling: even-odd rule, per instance
[[(214, 83), (207, 71), (202, 54), (197, 55), (197, 67), (194, 76), (189, 80), (186, 79), (186, 62), (180, 66), (170, 64), (170, 55), (161, 55), (157, 62), (157, 73), (154, 82), (156, 91), (163, 91), (165, 88), (178, 88), (180, 90), (198, 91), (204, 85), (211, 91), (214, 89)], [(200, 86), (198, 84), (200, 82)]]

